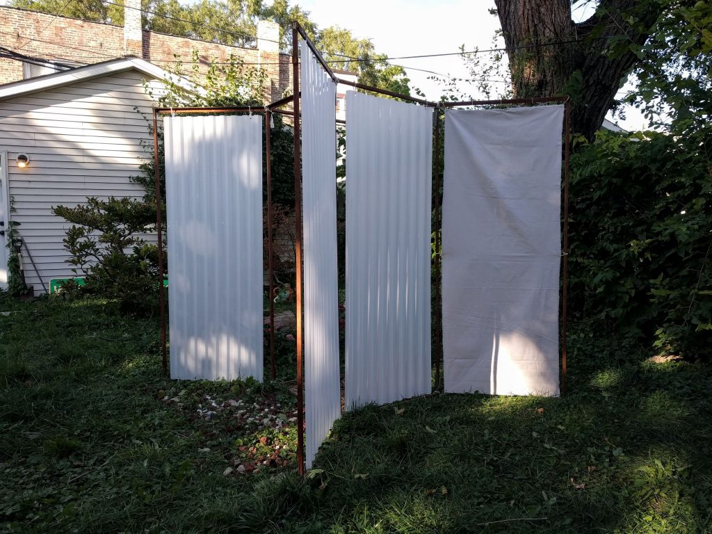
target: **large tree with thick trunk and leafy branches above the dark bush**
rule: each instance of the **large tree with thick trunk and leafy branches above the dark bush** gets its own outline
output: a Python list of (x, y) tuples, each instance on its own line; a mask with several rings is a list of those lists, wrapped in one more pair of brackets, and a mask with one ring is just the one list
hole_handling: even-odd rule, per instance
[[(576, 23), (571, 9), (594, 5)], [(701, 96), (708, 75), (712, 20), (696, 0), (496, 0), (513, 78), (521, 98), (569, 95), (572, 126), (592, 140), (629, 76), (639, 90), (628, 100), (659, 112), (683, 112)], [(680, 100), (686, 100), (681, 103)], [(692, 106), (694, 108), (694, 106)]]

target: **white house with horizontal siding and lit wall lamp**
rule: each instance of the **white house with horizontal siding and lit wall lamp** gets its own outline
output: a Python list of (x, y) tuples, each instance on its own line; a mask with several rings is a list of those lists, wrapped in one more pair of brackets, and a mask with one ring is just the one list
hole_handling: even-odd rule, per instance
[[(29, 251), (23, 248), (23, 269), (36, 293), (43, 291), (41, 281), (48, 288), (52, 278), (74, 276), (62, 243), (70, 224), (52, 214), (53, 206), (86, 197), (142, 197), (129, 177), (152, 157), (147, 119), (154, 103), (143, 80), (158, 94), (159, 80), (169, 76), (124, 58), (0, 85), (0, 230), (9, 219), (19, 223), (16, 233)], [(194, 90), (185, 80), (173, 81)], [(20, 154), (30, 159), (24, 168), (17, 164)], [(0, 248), (2, 288), (7, 251)]]

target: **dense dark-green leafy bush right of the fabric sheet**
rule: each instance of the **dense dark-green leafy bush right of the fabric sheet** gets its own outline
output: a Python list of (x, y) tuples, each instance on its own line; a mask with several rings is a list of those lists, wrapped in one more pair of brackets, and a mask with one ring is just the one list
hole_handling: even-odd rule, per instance
[(709, 357), (710, 129), (600, 132), (572, 159), (570, 305), (665, 352)]

